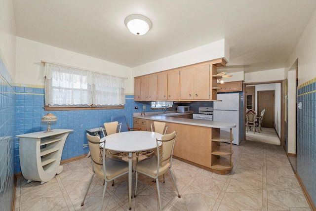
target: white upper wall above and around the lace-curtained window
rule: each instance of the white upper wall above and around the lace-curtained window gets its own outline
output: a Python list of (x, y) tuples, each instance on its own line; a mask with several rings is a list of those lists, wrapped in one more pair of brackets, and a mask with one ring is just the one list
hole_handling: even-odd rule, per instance
[(41, 60), (126, 77), (128, 82), (125, 91), (134, 93), (131, 68), (19, 37), (16, 47), (15, 83), (43, 86), (44, 66)]

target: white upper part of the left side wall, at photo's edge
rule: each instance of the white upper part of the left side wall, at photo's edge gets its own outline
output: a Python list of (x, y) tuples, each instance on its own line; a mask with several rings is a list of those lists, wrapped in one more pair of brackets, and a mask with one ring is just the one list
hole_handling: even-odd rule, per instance
[(16, 31), (12, 0), (0, 0), (0, 56), (15, 78)]

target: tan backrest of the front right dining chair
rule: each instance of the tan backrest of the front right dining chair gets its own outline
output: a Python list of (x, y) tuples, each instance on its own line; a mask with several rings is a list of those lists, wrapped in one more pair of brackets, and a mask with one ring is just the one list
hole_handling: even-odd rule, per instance
[(165, 134), (161, 136), (161, 140), (156, 139), (157, 141), (157, 152), (159, 165), (164, 166), (166, 163), (170, 162), (170, 168), (172, 163), (172, 154), (173, 147), (176, 141), (177, 132), (173, 131), (172, 133)]

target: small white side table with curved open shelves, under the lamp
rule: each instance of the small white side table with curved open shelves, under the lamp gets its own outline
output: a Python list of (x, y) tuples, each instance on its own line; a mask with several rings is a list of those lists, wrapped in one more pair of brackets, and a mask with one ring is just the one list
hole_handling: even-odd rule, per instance
[(62, 172), (60, 160), (69, 132), (73, 129), (53, 129), (53, 132), (32, 132), (17, 135), (20, 138), (20, 165), (28, 183), (48, 182)]

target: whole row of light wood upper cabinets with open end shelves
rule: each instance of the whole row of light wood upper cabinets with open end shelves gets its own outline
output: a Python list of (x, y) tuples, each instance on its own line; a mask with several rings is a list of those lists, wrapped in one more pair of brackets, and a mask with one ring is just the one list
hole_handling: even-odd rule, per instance
[[(135, 77), (135, 101), (209, 101), (216, 100), (217, 67), (223, 58)], [(180, 76), (181, 73), (181, 76)]]

